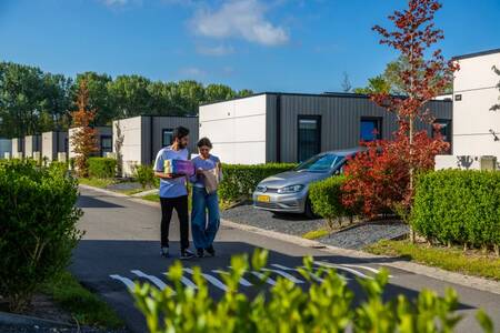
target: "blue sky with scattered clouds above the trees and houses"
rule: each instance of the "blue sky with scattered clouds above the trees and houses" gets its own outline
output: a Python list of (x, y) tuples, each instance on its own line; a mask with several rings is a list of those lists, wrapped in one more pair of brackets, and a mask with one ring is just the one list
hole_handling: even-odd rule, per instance
[[(500, 48), (500, 0), (441, 0), (439, 43), (453, 56)], [(193, 79), (233, 89), (341, 91), (397, 58), (373, 24), (403, 0), (0, 0), (0, 61)]]

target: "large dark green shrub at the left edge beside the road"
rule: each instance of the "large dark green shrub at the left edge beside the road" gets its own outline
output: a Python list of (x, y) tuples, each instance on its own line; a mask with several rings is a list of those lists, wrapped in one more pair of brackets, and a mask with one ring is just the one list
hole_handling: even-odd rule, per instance
[(0, 295), (24, 307), (38, 287), (66, 269), (80, 239), (76, 180), (32, 163), (0, 165)]

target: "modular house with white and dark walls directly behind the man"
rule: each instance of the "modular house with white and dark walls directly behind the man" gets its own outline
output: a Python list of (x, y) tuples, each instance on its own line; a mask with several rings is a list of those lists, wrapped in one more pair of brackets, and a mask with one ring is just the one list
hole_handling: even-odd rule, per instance
[(113, 153), (121, 154), (123, 175), (132, 175), (134, 165), (151, 165), (158, 151), (171, 144), (173, 129), (180, 125), (189, 129), (188, 149), (196, 153), (198, 117), (142, 115), (113, 121), (113, 142), (122, 142), (120, 151), (118, 143), (113, 145)]

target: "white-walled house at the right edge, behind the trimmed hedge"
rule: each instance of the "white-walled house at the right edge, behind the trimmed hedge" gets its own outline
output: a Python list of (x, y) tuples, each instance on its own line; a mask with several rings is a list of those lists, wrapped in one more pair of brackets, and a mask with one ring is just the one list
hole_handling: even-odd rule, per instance
[[(436, 169), (496, 169), (500, 160), (500, 49), (456, 57), (451, 155)], [(496, 107), (498, 105), (498, 107)]]

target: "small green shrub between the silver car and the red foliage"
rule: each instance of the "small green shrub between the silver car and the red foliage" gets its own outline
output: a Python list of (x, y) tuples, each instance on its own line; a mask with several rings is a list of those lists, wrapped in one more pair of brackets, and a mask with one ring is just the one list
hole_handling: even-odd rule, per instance
[(328, 226), (333, 226), (337, 220), (342, 225), (342, 218), (349, 218), (352, 222), (354, 212), (342, 204), (342, 184), (344, 176), (331, 176), (326, 180), (312, 183), (309, 186), (309, 198), (312, 211), (327, 220)]

